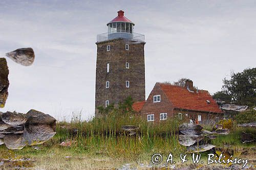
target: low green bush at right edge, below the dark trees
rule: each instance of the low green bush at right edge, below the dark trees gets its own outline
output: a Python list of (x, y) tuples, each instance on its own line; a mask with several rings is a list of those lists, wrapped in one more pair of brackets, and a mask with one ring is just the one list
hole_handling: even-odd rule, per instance
[(238, 124), (256, 122), (256, 110), (251, 109), (241, 112), (235, 116)]

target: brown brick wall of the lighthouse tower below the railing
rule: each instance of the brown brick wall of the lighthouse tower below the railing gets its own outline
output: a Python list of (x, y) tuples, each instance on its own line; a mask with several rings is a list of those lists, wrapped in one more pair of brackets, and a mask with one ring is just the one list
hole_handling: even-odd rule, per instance
[[(131, 95), (134, 101), (145, 100), (145, 42), (127, 39), (115, 39), (97, 44), (96, 63), (96, 92), (95, 116), (98, 116), (97, 107), (105, 106), (105, 101), (117, 105)], [(129, 50), (125, 50), (129, 44)], [(107, 45), (111, 50), (106, 50)], [(130, 63), (127, 69), (125, 63)], [(110, 72), (106, 72), (106, 64), (110, 63)], [(106, 88), (106, 81), (110, 87)], [(126, 88), (125, 81), (130, 81), (130, 88)]]

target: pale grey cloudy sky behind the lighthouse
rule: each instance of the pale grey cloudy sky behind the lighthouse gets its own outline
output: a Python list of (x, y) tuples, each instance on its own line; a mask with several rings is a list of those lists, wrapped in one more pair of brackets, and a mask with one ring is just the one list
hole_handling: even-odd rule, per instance
[(36, 109), (58, 120), (94, 116), (96, 35), (123, 10), (145, 35), (146, 98), (156, 82), (193, 80), (211, 94), (256, 65), (256, 1), (0, 1), (0, 57), (32, 47), (35, 61), (7, 58), (0, 111)]

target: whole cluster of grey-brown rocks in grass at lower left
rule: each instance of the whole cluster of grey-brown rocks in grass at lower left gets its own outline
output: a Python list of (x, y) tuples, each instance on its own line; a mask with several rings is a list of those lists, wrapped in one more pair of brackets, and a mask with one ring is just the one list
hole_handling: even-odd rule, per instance
[(41, 144), (56, 134), (55, 127), (54, 117), (33, 109), (27, 114), (6, 112), (0, 114), (0, 143), (12, 150)]

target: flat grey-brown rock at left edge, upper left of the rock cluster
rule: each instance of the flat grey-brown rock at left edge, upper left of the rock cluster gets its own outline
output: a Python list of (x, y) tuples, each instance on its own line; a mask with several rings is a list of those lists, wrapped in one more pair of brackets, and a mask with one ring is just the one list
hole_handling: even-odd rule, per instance
[(7, 111), (3, 113), (2, 120), (4, 123), (11, 125), (12, 127), (16, 127), (19, 125), (24, 125), (27, 119), (22, 113), (12, 113)]

